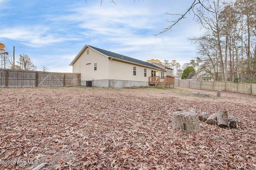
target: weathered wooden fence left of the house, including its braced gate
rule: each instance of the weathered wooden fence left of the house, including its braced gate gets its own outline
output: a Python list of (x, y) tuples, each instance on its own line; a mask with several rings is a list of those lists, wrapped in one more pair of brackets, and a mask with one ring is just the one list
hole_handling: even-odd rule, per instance
[(0, 87), (65, 87), (80, 84), (80, 73), (0, 69)]

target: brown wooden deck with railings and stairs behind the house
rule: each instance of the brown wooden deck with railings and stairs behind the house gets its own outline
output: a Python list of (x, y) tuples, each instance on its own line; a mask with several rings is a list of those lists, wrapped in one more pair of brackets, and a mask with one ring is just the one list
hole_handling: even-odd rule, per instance
[(148, 85), (157, 87), (158, 84), (161, 84), (162, 88), (174, 87), (174, 77), (169, 75), (166, 75), (164, 78), (161, 78), (160, 76), (148, 77)]

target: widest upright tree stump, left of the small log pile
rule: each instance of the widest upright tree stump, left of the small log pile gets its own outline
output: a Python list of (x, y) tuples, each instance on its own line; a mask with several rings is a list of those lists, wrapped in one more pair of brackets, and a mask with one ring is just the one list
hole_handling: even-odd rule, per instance
[(176, 111), (173, 113), (172, 127), (184, 132), (200, 132), (198, 115), (191, 111)]

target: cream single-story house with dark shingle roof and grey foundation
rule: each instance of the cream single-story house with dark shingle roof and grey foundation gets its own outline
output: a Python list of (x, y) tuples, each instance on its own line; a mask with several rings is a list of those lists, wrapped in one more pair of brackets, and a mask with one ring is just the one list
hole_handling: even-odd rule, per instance
[(81, 73), (81, 85), (95, 87), (148, 86), (151, 76), (166, 70), (151, 63), (85, 45), (70, 63), (73, 73)]

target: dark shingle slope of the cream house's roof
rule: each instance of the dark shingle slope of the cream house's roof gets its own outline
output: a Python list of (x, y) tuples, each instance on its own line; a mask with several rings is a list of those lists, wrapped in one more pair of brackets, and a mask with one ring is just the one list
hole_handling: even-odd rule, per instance
[[(128, 61), (128, 62), (132, 62), (132, 63), (137, 63), (137, 64), (140, 64), (140, 65), (145, 65), (145, 66), (148, 66), (148, 67), (154, 67), (156, 69), (160, 69), (160, 70), (164, 70), (160, 67), (157, 67), (156, 65), (153, 65), (151, 63), (148, 63), (148, 62), (145, 62), (145, 61), (141, 61), (141, 60), (138, 60), (138, 59), (134, 59), (134, 58), (131, 58), (131, 57), (127, 57), (125, 55), (121, 55), (121, 54), (118, 54), (118, 53), (113, 53), (111, 51), (107, 51), (107, 50), (104, 50), (104, 49), (100, 49), (100, 48), (97, 48), (97, 47), (93, 47), (91, 45), (87, 45), (97, 51), (99, 51), (100, 53), (104, 54), (104, 55), (107, 55), (107, 56), (110, 56), (110, 57), (113, 57), (115, 59), (120, 59), (120, 60), (124, 60), (124, 61)], [(165, 71), (165, 70), (164, 70)]]

